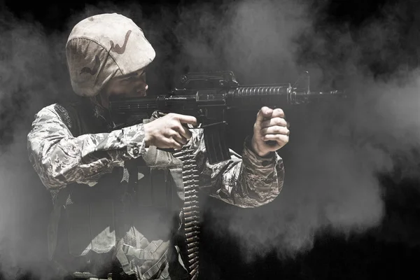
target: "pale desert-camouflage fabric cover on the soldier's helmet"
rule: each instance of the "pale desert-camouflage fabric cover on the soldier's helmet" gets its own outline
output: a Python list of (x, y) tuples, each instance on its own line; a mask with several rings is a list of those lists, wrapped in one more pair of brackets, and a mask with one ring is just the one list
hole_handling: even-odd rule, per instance
[(155, 50), (124, 15), (104, 13), (78, 22), (66, 43), (67, 66), (76, 94), (93, 97), (111, 78), (150, 64)]

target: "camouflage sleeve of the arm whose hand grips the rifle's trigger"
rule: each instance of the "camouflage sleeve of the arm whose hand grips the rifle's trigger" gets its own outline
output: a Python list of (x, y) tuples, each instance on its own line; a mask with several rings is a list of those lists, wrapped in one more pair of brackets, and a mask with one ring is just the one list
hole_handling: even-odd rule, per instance
[(54, 104), (36, 114), (27, 147), (32, 166), (50, 190), (73, 182), (92, 186), (124, 160), (146, 152), (143, 125), (73, 137)]

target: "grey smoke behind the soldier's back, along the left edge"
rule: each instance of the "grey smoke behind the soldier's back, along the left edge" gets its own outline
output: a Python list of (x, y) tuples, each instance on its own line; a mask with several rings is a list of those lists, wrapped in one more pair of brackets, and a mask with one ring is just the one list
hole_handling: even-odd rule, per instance
[(61, 35), (6, 11), (0, 37), (0, 263), (3, 279), (18, 279), (42, 271), (50, 211), (49, 193), (29, 164), (26, 135), (34, 113), (65, 97), (69, 82)]

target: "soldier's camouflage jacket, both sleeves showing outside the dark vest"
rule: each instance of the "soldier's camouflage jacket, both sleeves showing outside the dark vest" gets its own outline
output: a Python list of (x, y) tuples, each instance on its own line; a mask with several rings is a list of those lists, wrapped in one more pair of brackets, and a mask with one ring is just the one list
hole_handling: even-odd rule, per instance
[[(113, 130), (112, 124), (106, 121), (108, 118), (104, 117), (104, 111), (97, 106), (93, 106), (92, 111), (94, 121), (102, 128), (76, 137), (72, 133), (74, 122), (83, 123), (86, 120), (71, 120), (66, 109), (59, 104), (41, 109), (32, 123), (27, 137), (29, 160), (50, 190), (54, 204), (57, 204), (57, 197), (66, 186), (78, 183), (93, 188), (113, 169), (124, 167), (128, 160), (146, 154), (143, 124)], [(108, 127), (109, 132), (104, 132), (103, 127)], [(231, 160), (210, 165), (202, 130), (192, 130), (192, 133), (187, 146), (195, 151), (200, 188), (204, 193), (238, 207), (258, 207), (279, 195), (284, 169), (277, 153), (262, 158), (255, 155), (248, 147), (249, 141), (245, 141), (241, 156), (230, 151)], [(143, 237), (141, 228), (133, 226), (130, 230), (137, 237)], [(136, 248), (136, 242), (132, 246)]]

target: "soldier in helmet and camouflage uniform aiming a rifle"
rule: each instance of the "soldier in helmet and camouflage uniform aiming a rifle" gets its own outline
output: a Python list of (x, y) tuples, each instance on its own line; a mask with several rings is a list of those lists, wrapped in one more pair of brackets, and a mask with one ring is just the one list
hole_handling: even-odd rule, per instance
[(197, 125), (192, 116), (157, 112), (144, 123), (115, 127), (109, 97), (146, 95), (145, 69), (154, 57), (143, 31), (123, 15), (78, 22), (66, 58), (81, 101), (45, 106), (32, 123), (29, 160), (52, 195), (48, 252), (63, 278), (197, 276), (190, 272), (198, 262), (186, 263), (178, 235), (188, 193), (182, 161), (162, 148), (193, 151), (204, 193), (238, 207), (267, 204), (283, 187), (275, 151), (288, 143), (289, 130), (281, 109), (263, 107), (242, 155), (230, 151), (230, 160), (214, 165), (202, 130), (186, 128)]

